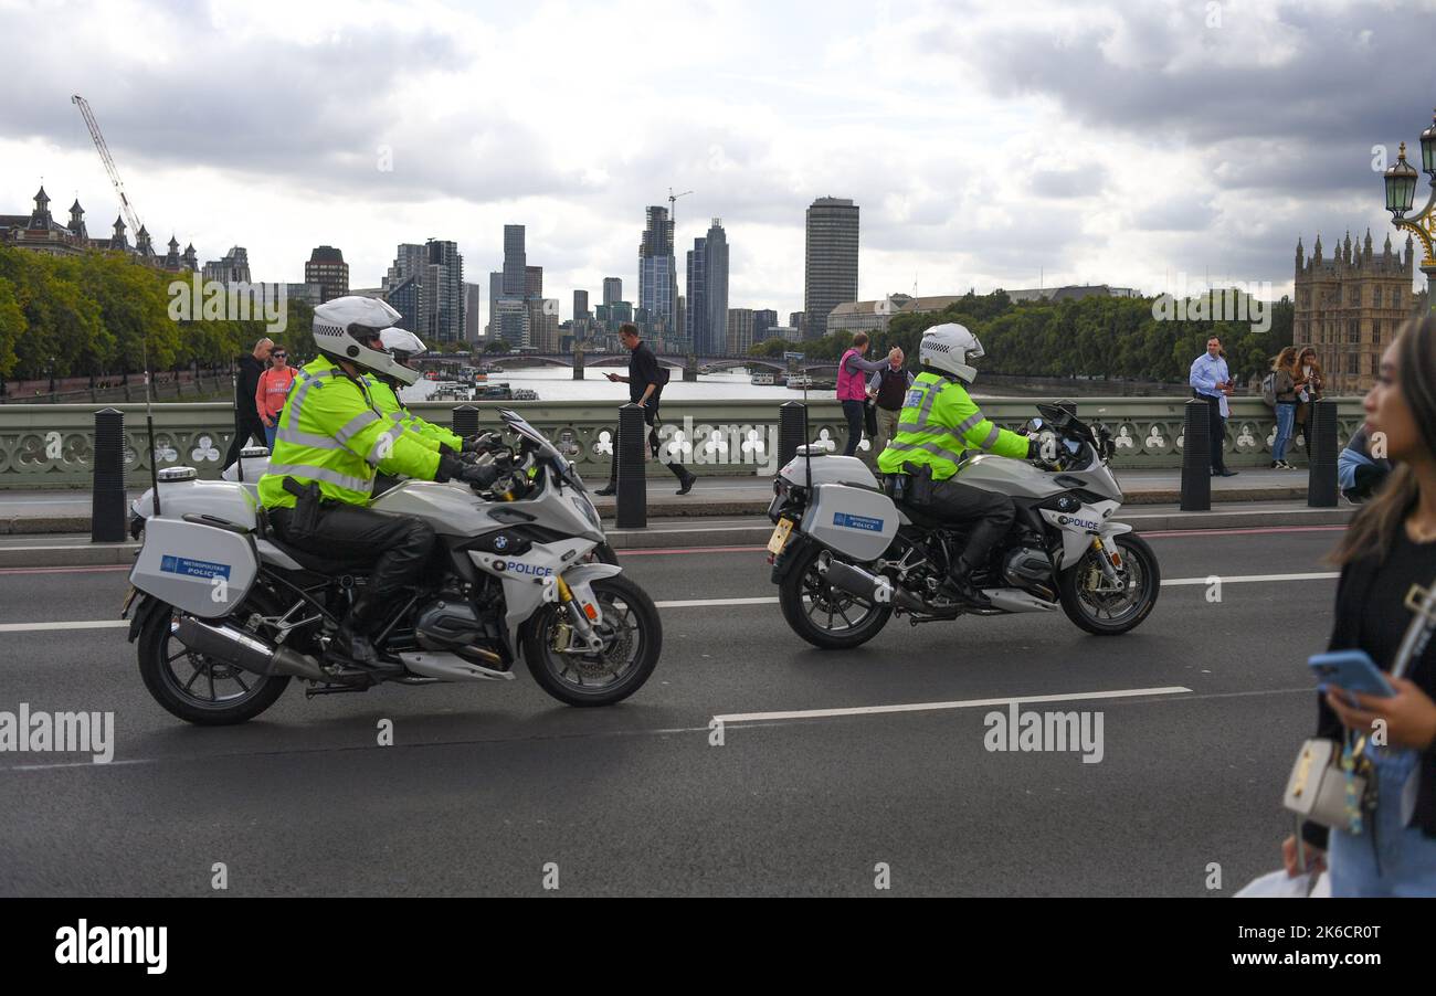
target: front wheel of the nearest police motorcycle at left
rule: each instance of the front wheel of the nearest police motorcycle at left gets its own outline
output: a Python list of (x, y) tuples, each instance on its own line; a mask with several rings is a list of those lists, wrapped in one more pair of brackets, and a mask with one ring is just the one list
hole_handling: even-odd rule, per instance
[(544, 692), (570, 706), (622, 702), (643, 687), (663, 650), (663, 624), (643, 588), (617, 574), (593, 581), (593, 596), (603, 613), (595, 624), (602, 650), (566, 649), (576, 633), (569, 610), (556, 603), (540, 609), (524, 634), (528, 672)]

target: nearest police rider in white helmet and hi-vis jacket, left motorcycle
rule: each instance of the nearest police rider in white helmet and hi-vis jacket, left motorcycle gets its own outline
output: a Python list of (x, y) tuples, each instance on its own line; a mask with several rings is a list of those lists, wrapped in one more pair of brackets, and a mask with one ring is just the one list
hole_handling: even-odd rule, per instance
[(369, 634), (382, 606), (411, 587), (434, 547), (426, 522), (368, 508), (376, 469), (424, 481), (458, 479), (487, 487), (493, 465), (439, 454), (382, 415), (365, 372), (414, 383), (418, 373), (383, 350), (382, 333), (399, 319), (383, 301), (336, 297), (314, 309), (319, 357), (304, 366), (280, 412), (269, 474), (258, 499), (287, 544), (314, 554), (372, 554), (375, 565), (330, 644), (350, 663), (381, 669)]

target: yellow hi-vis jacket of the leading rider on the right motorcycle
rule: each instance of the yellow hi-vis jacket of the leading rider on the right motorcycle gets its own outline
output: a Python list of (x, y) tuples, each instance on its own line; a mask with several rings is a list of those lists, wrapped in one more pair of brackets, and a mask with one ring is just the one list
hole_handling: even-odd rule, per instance
[(956, 380), (923, 370), (912, 382), (898, 435), (877, 456), (877, 469), (898, 474), (903, 464), (932, 465), (932, 479), (946, 481), (958, 472), (964, 449), (1022, 459), (1027, 438), (992, 425)]

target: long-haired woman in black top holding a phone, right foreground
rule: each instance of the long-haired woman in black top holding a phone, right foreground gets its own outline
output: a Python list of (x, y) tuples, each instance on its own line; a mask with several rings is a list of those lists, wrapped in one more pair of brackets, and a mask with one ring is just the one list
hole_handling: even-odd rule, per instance
[[(1341, 581), (1330, 649), (1364, 650), (1390, 672), (1420, 604), (1413, 594), (1436, 584), (1436, 317), (1409, 323), (1386, 349), (1364, 408), (1396, 469), (1333, 554)], [(1333, 687), (1318, 699), (1317, 736), (1351, 730), (1374, 742), (1366, 756), (1377, 802), (1360, 832), (1302, 825), (1318, 857), (1330, 844), (1333, 896), (1436, 896), (1436, 640), (1417, 642), (1406, 676), (1387, 680), (1390, 697)], [(1282, 850), (1295, 874), (1295, 837)]]

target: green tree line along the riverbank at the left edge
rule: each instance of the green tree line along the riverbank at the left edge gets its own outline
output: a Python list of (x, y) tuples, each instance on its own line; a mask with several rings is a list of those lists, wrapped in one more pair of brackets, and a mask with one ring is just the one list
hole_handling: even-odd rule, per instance
[[(198, 365), (228, 366), (269, 336), (296, 357), (314, 354), (313, 309), (286, 301), (284, 330), (263, 317), (171, 317), (172, 284), (190, 271), (165, 273), (122, 253), (47, 255), (0, 247), (0, 377), (109, 376)], [(225, 309), (238, 313), (237, 309)]]

